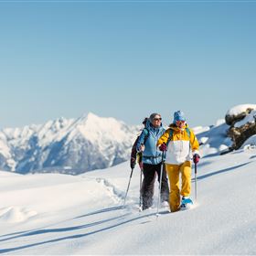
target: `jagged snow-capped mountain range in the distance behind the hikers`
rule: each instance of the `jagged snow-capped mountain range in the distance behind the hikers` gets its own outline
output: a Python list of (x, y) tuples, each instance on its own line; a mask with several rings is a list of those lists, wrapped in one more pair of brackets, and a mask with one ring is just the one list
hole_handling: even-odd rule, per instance
[(93, 113), (0, 132), (0, 168), (80, 174), (127, 160), (138, 126)]

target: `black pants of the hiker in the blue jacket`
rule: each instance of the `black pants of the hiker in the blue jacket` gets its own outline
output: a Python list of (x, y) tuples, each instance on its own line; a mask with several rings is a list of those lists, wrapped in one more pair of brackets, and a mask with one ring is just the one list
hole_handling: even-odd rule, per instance
[[(144, 164), (144, 181), (142, 185), (143, 209), (150, 208), (153, 205), (155, 176), (157, 174), (158, 182), (160, 182), (162, 164), (149, 165)], [(165, 171), (163, 168), (162, 185), (161, 185), (161, 201), (169, 200), (169, 187)]]

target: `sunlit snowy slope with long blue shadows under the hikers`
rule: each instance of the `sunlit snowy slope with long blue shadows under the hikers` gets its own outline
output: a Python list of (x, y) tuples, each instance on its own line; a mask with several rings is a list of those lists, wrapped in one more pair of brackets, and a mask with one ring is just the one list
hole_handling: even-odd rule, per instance
[(202, 158), (196, 207), (158, 219), (138, 212), (138, 167), (120, 207), (128, 162), (80, 176), (0, 172), (0, 253), (256, 254), (255, 161), (248, 145)]

